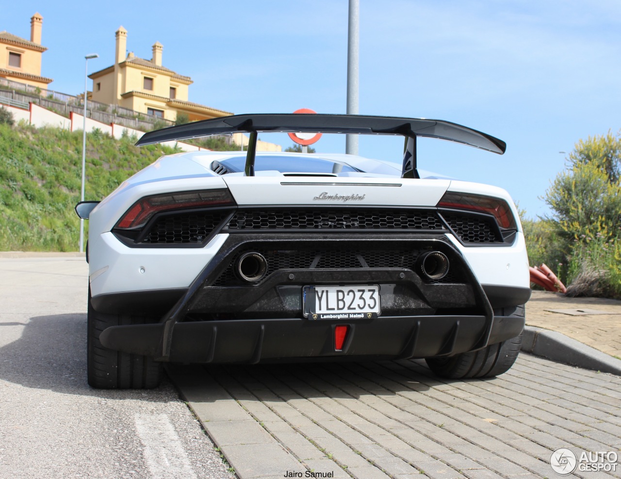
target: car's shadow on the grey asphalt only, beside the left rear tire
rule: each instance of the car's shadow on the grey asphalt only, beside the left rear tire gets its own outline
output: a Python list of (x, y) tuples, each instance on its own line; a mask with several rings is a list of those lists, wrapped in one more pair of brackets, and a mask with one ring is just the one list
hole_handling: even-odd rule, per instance
[(0, 347), (0, 380), (65, 394), (153, 402), (170, 401), (171, 392), (175, 390), (168, 378), (153, 390), (89, 387), (86, 382), (86, 314), (33, 316), (25, 325), (0, 322), (0, 336), (5, 336), (8, 328), (17, 326), (23, 326), (19, 339)]

